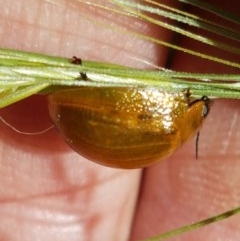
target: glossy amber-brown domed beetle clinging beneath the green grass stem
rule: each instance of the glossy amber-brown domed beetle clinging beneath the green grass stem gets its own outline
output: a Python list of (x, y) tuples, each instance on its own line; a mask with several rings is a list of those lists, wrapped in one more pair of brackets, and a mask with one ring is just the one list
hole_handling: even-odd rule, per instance
[(142, 87), (80, 87), (48, 96), (50, 116), (65, 141), (106, 166), (141, 168), (176, 150), (201, 126), (207, 97)]

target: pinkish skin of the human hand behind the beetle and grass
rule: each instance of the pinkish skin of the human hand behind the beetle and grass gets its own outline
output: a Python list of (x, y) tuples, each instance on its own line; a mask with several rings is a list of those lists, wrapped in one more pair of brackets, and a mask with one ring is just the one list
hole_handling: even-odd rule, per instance
[[(132, 55), (164, 65), (165, 49), (110, 30), (103, 34), (84, 21), (81, 5), (71, 7), (67, 2), (59, 0), (59, 6), (43, 0), (0, 0), (0, 46), (143, 67), (128, 57)], [(237, 3), (233, 9), (239, 9)], [(156, 32), (147, 24), (143, 29)], [(182, 54), (175, 57), (177, 69), (233, 72)], [(43, 97), (0, 113), (22, 131), (50, 125)], [(201, 131), (200, 160), (194, 158), (193, 138), (141, 176), (140, 170), (116, 170), (87, 161), (54, 129), (25, 136), (0, 124), (0, 240), (135, 241), (239, 206), (239, 126), (239, 101), (215, 101)], [(170, 240), (223, 241), (239, 236), (237, 216)]]

